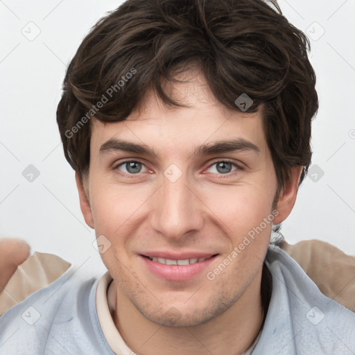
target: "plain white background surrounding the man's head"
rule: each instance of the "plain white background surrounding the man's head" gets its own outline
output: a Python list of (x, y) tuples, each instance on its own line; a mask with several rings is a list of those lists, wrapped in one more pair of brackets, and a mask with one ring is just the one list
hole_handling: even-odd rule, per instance
[[(83, 37), (120, 3), (0, 1), (0, 237), (20, 237), (33, 251), (57, 254), (97, 274), (105, 268), (80, 211), (55, 110), (67, 64)], [(312, 164), (324, 171), (317, 182), (306, 178), (282, 233), (289, 243), (321, 239), (355, 254), (355, 0), (279, 4), (311, 38), (320, 97)], [(22, 33), (28, 26), (32, 35), (40, 31), (32, 41)], [(33, 182), (22, 175), (29, 164), (40, 171)]]

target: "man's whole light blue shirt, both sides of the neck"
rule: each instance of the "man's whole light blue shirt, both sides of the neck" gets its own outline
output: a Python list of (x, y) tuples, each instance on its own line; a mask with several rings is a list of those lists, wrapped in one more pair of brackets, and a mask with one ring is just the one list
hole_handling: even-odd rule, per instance
[[(272, 295), (252, 355), (354, 355), (355, 313), (320, 293), (275, 245), (269, 246), (266, 266)], [(114, 355), (98, 322), (97, 284), (95, 278), (78, 279), (71, 267), (6, 311), (0, 317), (0, 354)]]

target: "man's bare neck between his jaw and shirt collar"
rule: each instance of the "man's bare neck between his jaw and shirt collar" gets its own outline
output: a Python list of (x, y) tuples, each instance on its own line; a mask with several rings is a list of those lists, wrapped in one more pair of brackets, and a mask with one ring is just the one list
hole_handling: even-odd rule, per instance
[[(115, 285), (116, 286), (116, 285)], [(257, 338), (270, 301), (270, 271), (265, 264), (227, 311), (195, 327), (162, 327), (142, 315), (116, 286), (114, 323), (136, 354), (240, 355)]]

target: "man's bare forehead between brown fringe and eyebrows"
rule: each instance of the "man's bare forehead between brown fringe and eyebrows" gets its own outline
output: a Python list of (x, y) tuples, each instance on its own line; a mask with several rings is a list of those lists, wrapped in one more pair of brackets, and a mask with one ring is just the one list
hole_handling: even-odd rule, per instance
[[(190, 151), (208, 141), (244, 139), (260, 150), (266, 148), (261, 112), (232, 110), (216, 100), (200, 71), (180, 74), (184, 83), (164, 81), (164, 92), (187, 107), (166, 106), (153, 89), (125, 121), (92, 121), (92, 148), (99, 150), (109, 139), (125, 139), (167, 150)], [(237, 96), (236, 96), (237, 97)]]

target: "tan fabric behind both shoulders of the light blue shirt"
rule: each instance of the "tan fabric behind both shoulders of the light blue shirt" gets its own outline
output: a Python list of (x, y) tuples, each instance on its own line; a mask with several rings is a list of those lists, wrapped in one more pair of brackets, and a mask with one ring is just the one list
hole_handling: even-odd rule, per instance
[[(301, 241), (284, 249), (315, 282), (327, 297), (355, 311), (355, 258), (329, 243), (318, 240)], [(53, 254), (35, 252), (22, 263), (6, 288), (0, 292), (0, 315), (26, 297), (49, 286), (71, 263)]]

